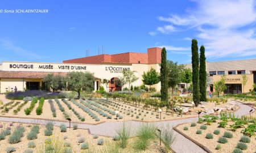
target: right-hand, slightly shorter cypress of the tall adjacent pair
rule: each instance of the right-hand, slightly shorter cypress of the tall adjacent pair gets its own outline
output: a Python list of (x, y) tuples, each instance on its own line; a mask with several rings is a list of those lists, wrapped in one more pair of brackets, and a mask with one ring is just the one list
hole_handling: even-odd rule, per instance
[(199, 69), (199, 82), (200, 82), (200, 101), (207, 101), (207, 72), (205, 63), (205, 49), (202, 45), (200, 47), (200, 69)]

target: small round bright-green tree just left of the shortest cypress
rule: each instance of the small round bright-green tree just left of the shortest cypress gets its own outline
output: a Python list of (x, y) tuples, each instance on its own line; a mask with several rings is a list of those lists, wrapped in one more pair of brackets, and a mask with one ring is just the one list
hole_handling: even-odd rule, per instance
[(149, 71), (147, 71), (146, 73), (145, 72), (143, 73), (142, 82), (150, 86), (151, 88), (152, 85), (160, 82), (159, 73), (156, 72), (156, 70), (151, 67)]

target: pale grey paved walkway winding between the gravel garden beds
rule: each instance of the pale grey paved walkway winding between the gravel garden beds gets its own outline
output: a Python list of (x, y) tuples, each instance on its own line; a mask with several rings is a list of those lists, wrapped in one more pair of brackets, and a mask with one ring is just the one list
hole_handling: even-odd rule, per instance
[[(233, 101), (232, 103), (237, 103), (237, 105), (240, 106), (240, 109), (238, 109), (235, 114), (238, 117), (241, 117), (245, 114), (248, 114), (251, 110), (251, 107), (242, 104), (240, 102)], [(167, 124), (171, 126), (176, 126), (177, 124), (183, 124), (187, 122), (196, 122), (198, 120), (198, 117), (194, 118), (184, 118), (180, 120), (173, 120), (173, 121), (162, 121), (162, 122), (155, 122), (151, 124), (155, 124), (156, 126), (166, 126)], [(46, 124), (47, 120), (35, 120), (35, 119), (29, 119), (29, 118), (6, 118), (6, 117), (0, 117), (0, 121), (13, 121), (13, 122), (23, 122), (23, 123), (37, 123), (37, 124)], [(58, 122), (54, 121), (54, 124), (56, 126), (59, 126), (60, 124), (65, 124), (69, 126), (67, 122)], [(138, 121), (126, 121), (125, 125), (130, 127), (131, 135), (135, 135), (135, 130), (138, 129), (138, 127), (144, 124), (143, 122)], [(89, 129), (91, 134), (97, 134), (97, 135), (104, 135), (108, 137), (113, 137), (116, 134), (116, 131), (120, 129), (123, 125), (123, 122), (104, 122), (99, 125), (88, 125), (88, 124), (78, 124), (79, 128), (82, 129)], [(72, 126), (72, 124), (71, 124)], [(189, 153), (200, 153), (205, 152), (202, 148), (197, 146), (195, 143), (189, 141), (189, 139), (183, 137), (183, 135), (177, 134), (176, 141), (172, 145), (172, 149), (176, 152), (189, 152)]]

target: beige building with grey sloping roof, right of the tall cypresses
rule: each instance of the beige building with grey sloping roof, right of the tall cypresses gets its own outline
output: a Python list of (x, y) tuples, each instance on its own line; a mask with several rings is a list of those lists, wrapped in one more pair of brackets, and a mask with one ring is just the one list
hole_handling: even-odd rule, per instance
[[(186, 66), (192, 69), (191, 64)], [(220, 80), (223, 75), (225, 75), (227, 87), (225, 94), (240, 94), (243, 90), (249, 92), (253, 88), (253, 84), (256, 83), (256, 59), (207, 62), (206, 66), (209, 74), (208, 91), (214, 91), (214, 82)], [(243, 75), (247, 76), (247, 82), (244, 87), (242, 86)]]

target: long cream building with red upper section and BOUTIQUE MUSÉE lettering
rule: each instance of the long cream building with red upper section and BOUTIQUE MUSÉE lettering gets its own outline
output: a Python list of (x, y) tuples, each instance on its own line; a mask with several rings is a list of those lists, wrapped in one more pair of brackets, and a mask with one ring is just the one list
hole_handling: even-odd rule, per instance
[[(100, 86), (106, 91), (120, 90), (116, 81), (122, 77), (122, 70), (135, 71), (139, 78), (133, 86), (141, 86), (142, 74), (154, 68), (160, 72), (161, 48), (148, 48), (147, 53), (101, 54), (97, 56), (68, 59), (63, 63), (44, 62), (2, 62), (0, 65), (0, 93), (44, 89), (43, 78), (49, 73), (65, 75), (70, 71), (89, 71), (94, 74), (94, 91)], [(101, 83), (108, 79), (108, 87)], [(126, 86), (127, 87), (127, 84)], [(153, 86), (160, 91), (160, 83)]]

